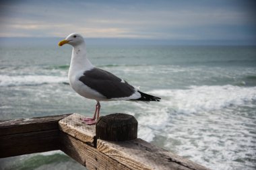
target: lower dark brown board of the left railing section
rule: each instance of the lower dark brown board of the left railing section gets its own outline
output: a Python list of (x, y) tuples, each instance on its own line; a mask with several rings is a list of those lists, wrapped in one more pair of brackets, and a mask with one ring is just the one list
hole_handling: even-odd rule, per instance
[(0, 158), (59, 150), (59, 130), (0, 136)]

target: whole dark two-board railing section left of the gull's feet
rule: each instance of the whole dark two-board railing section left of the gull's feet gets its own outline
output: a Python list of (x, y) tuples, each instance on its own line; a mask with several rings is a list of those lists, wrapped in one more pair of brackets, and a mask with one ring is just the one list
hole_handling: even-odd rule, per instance
[(69, 115), (2, 120), (0, 157), (59, 150), (59, 120)]

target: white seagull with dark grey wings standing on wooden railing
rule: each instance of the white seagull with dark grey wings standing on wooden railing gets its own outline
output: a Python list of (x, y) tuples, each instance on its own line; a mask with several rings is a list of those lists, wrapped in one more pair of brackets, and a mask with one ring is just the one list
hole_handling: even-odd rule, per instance
[(71, 88), (83, 97), (96, 100), (94, 116), (83, 119), (86, 124), (96, 124), (100, 101), (160, 101), (160, 97), (143, 93), (112, 73), (94, 67), (86, 56), (86, 42), (80, 34), (70, 34), (59, 42), (59, 46), (64, 44), (73, 46), (68, 73)]

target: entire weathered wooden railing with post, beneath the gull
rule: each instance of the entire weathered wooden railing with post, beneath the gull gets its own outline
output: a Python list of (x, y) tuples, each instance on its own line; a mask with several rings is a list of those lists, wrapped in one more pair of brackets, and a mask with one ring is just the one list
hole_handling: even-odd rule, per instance
[(88, 126), (79, 114), (0, 121), (0, 158), (61, 150), (87, 169), (207, 170), (137, 138), (137, 120), (103, 116)]

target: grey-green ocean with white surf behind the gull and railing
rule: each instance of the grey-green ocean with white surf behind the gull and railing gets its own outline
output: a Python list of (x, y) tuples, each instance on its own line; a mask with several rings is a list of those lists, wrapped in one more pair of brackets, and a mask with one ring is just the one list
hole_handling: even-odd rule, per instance
[[(256, 47), (88, 44), (88, 58), (160, 102), (102, 101), (139, 138), (210, 169), (256, 167)], [(78, 113), (96, 101), (69, 87), (71, 46), (0, 46), (0, 120)], [(84, 169), (61, 151), (0, 159), (0, 169)]]

